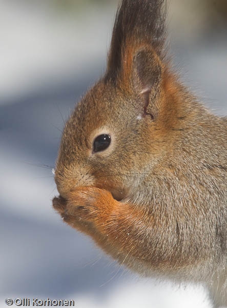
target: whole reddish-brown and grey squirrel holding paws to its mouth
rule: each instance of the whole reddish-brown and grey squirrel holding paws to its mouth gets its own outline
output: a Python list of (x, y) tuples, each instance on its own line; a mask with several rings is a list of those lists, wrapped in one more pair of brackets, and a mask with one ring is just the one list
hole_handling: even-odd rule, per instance
[(54, 209), (141, 275), (227, 306), (227, 118), (179, 81), (166, 0), (122, 0), (107, 70), (65, 125)]

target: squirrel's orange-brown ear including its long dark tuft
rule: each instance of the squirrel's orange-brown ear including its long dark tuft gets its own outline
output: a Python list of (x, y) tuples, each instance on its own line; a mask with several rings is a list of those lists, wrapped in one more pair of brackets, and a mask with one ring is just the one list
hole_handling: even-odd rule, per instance
[(113, 28), (104, 80), (143, 94), (146, 110), (160, 87), (165, 21), (166, 0), (122, 0)]

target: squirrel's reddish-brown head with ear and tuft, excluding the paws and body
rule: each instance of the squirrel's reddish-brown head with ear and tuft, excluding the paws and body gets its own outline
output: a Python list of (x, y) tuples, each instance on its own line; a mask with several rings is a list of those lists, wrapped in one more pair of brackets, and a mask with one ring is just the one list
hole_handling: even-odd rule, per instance
[(162, 0), (122, 2), (107, 71), (63, 132), (55, 170), (62, 197), (78, 186), (107, 189), (117, 200), (132, 196), (148, 162), (165, 155), (168, 127), (179, 112), (164, 64), (165, 17)]

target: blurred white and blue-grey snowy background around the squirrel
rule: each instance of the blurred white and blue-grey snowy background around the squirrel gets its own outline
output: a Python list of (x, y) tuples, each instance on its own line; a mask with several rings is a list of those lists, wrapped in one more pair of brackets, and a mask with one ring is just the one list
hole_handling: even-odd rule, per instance
[[(210, 307), (202, 287), (129, 273), (51, 207), (61, 130), (105, 71), (117, 4), (0, 0), (0, 307), (22, 297), (73, 299), (78, 308)], [(174, 67), (226, 115), (226, 0), (170, 0), (169, 11)]]

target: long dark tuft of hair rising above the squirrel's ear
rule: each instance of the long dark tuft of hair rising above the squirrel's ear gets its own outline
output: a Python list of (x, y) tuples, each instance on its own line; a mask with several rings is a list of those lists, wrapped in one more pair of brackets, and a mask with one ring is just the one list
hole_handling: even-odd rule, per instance
[(166, 0), (122, 0), (113, 28), (109, 72), (119, 72), (125, 57), (132, 60), (132, 53), (143, 46), (152, 48), (159, 59), (165, 56), (166, 12)]

